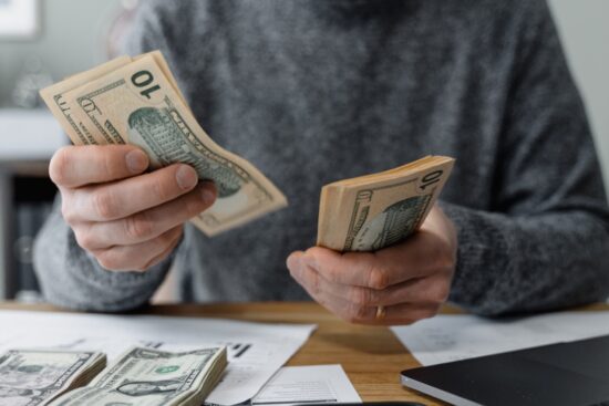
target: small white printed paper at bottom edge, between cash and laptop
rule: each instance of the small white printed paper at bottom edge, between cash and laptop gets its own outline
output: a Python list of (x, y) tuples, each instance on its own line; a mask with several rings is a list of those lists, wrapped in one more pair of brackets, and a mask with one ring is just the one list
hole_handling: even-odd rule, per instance
[(251, 400), (254, 406), (361, 403), (340, 365), (285, 366)]

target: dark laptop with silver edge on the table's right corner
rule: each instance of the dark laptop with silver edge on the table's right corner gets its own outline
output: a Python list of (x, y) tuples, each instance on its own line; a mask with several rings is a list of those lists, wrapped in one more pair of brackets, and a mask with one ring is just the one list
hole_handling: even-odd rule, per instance
[(609, 336), (406, 369), (401, 381), (457, 406), (609, 406)]

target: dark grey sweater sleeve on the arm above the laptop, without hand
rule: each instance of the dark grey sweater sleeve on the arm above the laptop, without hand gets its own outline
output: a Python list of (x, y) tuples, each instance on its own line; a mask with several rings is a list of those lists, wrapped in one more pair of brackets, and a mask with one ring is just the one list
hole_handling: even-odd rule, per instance
[(492, 210), (443, 202), (458, 230), (451, 300), (485, 315), (605, 300), (609, 211), (586, 113), (547, 6), (522, 38)]

